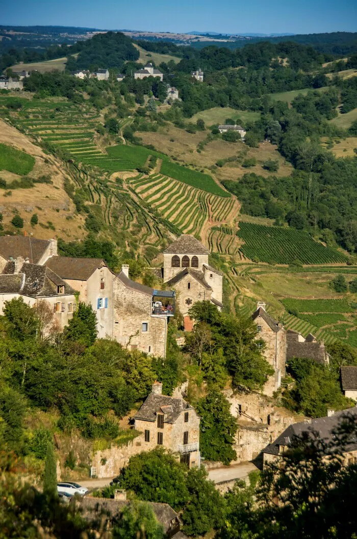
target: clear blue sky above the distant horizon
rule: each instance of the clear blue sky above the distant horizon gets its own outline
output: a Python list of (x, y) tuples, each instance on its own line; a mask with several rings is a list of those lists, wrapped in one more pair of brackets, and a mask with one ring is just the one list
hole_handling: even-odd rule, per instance
[(0, 24), (156, 32), (357, 31), (356, 0), (0, 0)]

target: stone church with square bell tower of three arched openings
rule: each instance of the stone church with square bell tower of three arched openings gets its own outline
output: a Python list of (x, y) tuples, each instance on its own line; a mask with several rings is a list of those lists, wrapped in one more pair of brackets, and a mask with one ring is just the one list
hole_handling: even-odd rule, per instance
[(223, 274), (208, 264), (209, 253), (191, 234), (182, 234), (163, 252), (163, 281), (178, 293), (186, 331), (193, 328), (188, 311), (196, 301), (209, 300), (218, 310), (223, 307)]

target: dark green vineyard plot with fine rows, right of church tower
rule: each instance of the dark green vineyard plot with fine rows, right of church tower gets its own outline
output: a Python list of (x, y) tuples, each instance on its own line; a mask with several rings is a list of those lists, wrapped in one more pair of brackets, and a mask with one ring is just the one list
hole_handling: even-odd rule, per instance
[(237, 236), (244, 241), (241, 251), (250, 260), (270, 264), (328, 264), (346, 257), (314, 241), (306, 232), (287, 227), (239, 223)]

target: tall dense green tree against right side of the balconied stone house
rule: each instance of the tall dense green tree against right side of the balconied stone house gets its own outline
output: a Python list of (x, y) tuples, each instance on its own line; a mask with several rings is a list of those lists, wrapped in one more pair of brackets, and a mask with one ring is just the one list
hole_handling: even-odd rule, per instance
[(237, 431), (237, 420), (230, 413), (228, 400), (219, 391), (211, 391), (198, 401), (201, 417), (200, 448), (205, 459), (229, 464), (237, 454), (232, 448)]

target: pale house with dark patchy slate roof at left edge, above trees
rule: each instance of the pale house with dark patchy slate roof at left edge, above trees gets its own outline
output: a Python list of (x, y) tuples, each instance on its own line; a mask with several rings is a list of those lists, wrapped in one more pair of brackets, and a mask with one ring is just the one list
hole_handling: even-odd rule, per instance
[(22, 297), (33, 307), (46, 300), (56, 320), (64, 328), (77, 308), (74, 289), (46, 266), (31, 264), (22, 257), (10, 260), (0, 274), (0, 313), (5, 301)]

